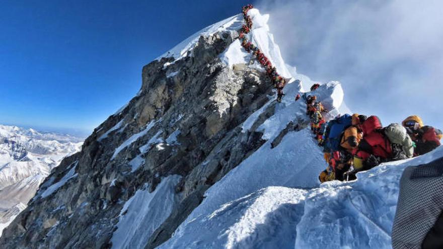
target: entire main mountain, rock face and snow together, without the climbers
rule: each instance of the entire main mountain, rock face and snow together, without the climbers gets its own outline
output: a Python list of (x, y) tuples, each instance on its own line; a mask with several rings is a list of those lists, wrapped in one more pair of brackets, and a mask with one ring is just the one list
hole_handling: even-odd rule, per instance
[[(143, 67), (139, 93), (62, 160), (4, 230), (6, 248), (389, 248), (406, 165), (320, 185), (322, 149), (303, 101), (313, 82), (284, 63), (249, 11), (248, 40), (290, 77), (281, 103), (238, 40), (242, 15)], [(312, 93), (349, 112), (339, 82)]]

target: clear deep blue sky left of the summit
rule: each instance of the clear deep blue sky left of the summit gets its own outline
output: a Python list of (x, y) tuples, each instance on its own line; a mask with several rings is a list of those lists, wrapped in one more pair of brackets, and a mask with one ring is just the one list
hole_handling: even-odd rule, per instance
[(128, 102), (141, 68), (248, 1), (2, 1), (0, 123), (86, 131)]

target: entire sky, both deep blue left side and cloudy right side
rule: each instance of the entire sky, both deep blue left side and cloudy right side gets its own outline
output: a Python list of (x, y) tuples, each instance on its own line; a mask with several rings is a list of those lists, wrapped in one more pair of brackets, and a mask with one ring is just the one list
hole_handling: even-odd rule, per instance
[(137, 93), (143, 65), (251, 2), (285, 61), (341, 81), (352, 111), (443, 128), (438, 0), (3, 1), (0, 123), (87, 135)]

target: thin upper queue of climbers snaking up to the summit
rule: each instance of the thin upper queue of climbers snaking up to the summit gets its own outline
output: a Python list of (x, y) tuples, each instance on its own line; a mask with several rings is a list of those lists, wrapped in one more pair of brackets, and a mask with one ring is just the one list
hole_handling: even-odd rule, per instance
[(242, 47), (245, 48), (248, 53), (252, 52), (252, 54), (255, 56), (255, 59), (266, 70), (266, 75), (271, 79), (271, 82), (274, 84), (274, 88), (277, 89), (277, 101), (281, 102), (281, 98), (284, 96), (283, 88), (286, 85), (288, 79), (278, 74), (277, 69), (275, 68), (275, 66), (272, 65), (266, 55), (264, 55), (257, 46), (252, 44), (246, 38), (246, 34), (248, 34), (252, 29), (252, 20), (251, 17), (248, 15), (248, 11), (252, 8), (254, 8), (254, 6), (247, 5), (242, 9), (245, 24), (239, 31), (239, 38), (242, 40)]

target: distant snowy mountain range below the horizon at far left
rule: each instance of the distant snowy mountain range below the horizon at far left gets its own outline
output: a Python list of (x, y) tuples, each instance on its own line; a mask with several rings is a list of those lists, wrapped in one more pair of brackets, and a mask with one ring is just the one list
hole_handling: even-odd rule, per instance
[(80, 150), (82, 141), (70, 135), (0, 125), (0, 235), (61, 159)]

